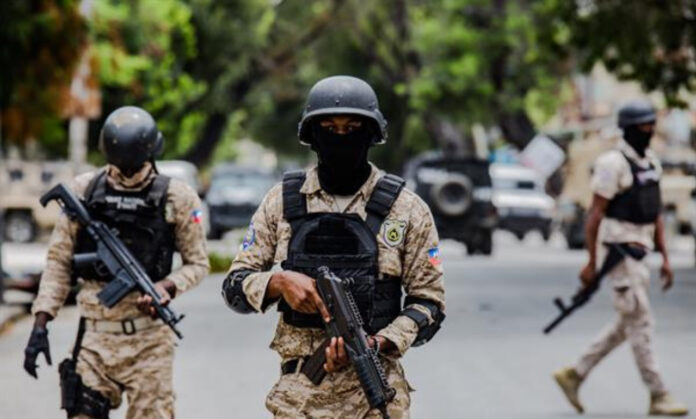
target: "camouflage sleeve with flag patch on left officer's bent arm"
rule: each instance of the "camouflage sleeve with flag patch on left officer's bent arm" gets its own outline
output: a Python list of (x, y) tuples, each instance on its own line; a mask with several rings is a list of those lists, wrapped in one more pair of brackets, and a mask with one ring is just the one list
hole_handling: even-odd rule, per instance
[(169, 184), (167, 207), (174, 221), (176, 248), (182, 265), (166, 279), (176, 285), (177, 294), (198, 284), (208, 274), (210, 262), (203, 228), (201, 200), (188, 185), (176, 179)]

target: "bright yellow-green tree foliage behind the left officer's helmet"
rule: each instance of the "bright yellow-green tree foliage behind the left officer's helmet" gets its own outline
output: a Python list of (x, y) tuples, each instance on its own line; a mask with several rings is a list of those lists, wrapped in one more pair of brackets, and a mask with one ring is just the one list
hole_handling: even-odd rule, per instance
[(186, 67), (198, 54), (191, 16), (178, 0), (102, 0), (95, 2), (90, 22), (103, 90), (102, 120), (117, 107), (142, 106), (158, 121), (168, 157), (191, 146), (204, 117), (188, 107), (208, 86)]

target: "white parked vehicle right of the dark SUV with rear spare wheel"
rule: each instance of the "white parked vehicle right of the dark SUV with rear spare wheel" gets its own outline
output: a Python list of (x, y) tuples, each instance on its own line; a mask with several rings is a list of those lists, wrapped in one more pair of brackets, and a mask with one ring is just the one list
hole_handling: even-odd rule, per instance
[(493, 205), (498, 209), (498, 227), (522, 239), (539, 231), (548, 240), (555, 201), (544, 191), (544, 179), (534, 170), (514, 164), (492, 164)]

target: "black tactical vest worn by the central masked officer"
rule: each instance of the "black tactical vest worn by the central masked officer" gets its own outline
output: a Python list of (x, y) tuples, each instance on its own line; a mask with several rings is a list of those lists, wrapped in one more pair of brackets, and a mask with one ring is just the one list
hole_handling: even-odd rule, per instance
[[(398, 176), (385, 175), (377, 182), (365, 207), (367, 218), (358, 214), (308, 213), (300, 189), (306, 175), (289, 172), (283, 177), (283, 216), (292, 235), (283, 269), (317, 276), (328, 266), (339, 278), (353, 278), (350, 291), (365, 329), (374, 334), (401, 312), (401, 278), (379, 271), (377, 234), (404, 186)], [(323, 328), (318, 314), (293, 310), (283, 299), (278, 304), (283, 320), (296, 327)]]

